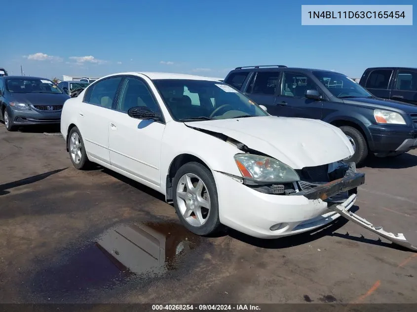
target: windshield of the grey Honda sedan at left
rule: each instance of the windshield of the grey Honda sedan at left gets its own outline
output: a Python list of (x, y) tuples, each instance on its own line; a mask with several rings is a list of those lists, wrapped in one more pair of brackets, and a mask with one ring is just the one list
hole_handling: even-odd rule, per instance
[(12, 78), (6, 80), (6, 88), (11, 93), (56, 93), (62, 91), (48, 79)]

